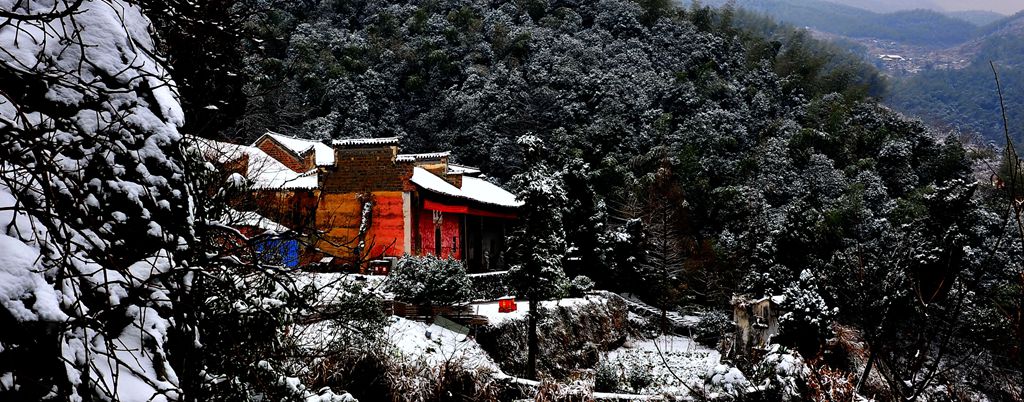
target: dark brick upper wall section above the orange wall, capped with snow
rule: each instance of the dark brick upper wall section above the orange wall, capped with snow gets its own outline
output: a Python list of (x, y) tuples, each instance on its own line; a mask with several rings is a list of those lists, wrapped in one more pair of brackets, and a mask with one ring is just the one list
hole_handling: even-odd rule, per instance
[(396, 163), (397, 147), (335, 149), (335, 166), (321, 170), (329, 193), (406, 191), (412, 163)]

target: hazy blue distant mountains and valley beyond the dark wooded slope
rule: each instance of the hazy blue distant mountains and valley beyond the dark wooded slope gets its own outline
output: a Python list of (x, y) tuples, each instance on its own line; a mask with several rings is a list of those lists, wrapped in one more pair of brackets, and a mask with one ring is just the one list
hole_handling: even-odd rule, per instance
[[(984, 141), (1002, 138), (1002, 121), (988, 61), (1000, 72), (1011, 135), (1024, 143), (1024, 11), (994, 23), (974, 25), (932, 10), (877, 13), (851, 6), (870, 0), (739, 0), (736, 6), (797, 27), (831, 34), (834, 43), (876, 60), (887, 49), (913, 50), (914, 72), (892, 77), (885, 103), (920, 117), (940, 130), (977, 133)], [(723, 4), (724, 0), (708, 0)], [(926, 5), (922, 3), (921, 5)], [(971, 13), (952, 13), (967, 15)], [(994, 14), (994, 15), (993, 15)], [(980, 12), (979, 23), (996, 17)], [(869, 40), (873, 38), (876, 40)], [(857, 39), (860, 49), (849, 46)], [(888, 40), (899, 46), (884, 45)], [(870, 52), (864, 45), (874, 46)], [(892, 50), (900, 51), (900, 50)], [(890, 53), (886, 53), (890, 54)], [(891, 53), (898, 54), (898, 53)], [(902, 58), (901, 58), (902, 59)], [(901, 61), (902, 62), (902, 61)], [(876, 61), (882, 66), (881, 61)], [(951, 65), (951, 68), (950, 68)]]

